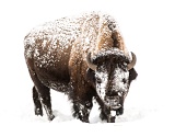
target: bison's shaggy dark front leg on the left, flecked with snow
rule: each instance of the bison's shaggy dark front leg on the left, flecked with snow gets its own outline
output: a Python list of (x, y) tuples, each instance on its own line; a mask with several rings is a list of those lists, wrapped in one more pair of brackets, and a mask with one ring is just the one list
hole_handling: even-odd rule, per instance
[(92, 101), (74, 100), (73, 101), (73, 116), (80, 121), (89, 123), (90, 112), (92, 110)]

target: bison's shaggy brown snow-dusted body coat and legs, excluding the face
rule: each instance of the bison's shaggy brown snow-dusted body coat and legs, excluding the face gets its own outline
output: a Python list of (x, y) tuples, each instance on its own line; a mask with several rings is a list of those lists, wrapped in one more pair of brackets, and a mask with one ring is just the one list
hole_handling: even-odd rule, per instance
[[(89, 122), (93, 96), (101, 106), (102, 119), (115, 121), (114, 117), (108, 119), (109, 110), (96, 94), (95, 72), (86, 64), (89, 53), (96, 57), (96, 65), (113, 57), (117, 60), (120, 58), (120, 62), (130, 61), (124, 39), (110, 15), (92, 12), (45, 23), (25, 36), (24, 45), (27, 68), (34, 82), (33, 100), (36, 115), (43, 116), (44, 106), (48, 119), (55, 117), (49, 92), (54, 89), (69, 94), (73, 103), (73, 116), (82, 122)], [(116, 55), (113, 48), (121, 50), (125, 56)], [(107, 55), (108, 58), (105, 60), (106, 56), (100, 55), (108, 50), (112, 54), (108, 53), (109, 56)], [(116, 59), (113, 59), (114, 62)], [(135, 69), (129, 70), (129, 81), (136, 77)], [(116, 111), (116, 114), (122, 114), (122, 107)]]

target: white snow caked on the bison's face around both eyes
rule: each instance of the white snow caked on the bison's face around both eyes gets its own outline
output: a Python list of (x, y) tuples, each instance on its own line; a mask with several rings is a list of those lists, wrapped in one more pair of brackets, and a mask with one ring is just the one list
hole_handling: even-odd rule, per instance
[[(114, 75), (112, 76), (112, 73)], [(108, 98), (106, 93), (109, 90), (115, 91), (116, 95), (119, 98), (124, 98), (128, 92), (129, 72), (119, 68), (118, 65), (116, 65), (113, 72), (108, 70), (105, 65), (101, 66), (95, 72), (95, 78), (96, 92), (104, 102), (105, 98)]]

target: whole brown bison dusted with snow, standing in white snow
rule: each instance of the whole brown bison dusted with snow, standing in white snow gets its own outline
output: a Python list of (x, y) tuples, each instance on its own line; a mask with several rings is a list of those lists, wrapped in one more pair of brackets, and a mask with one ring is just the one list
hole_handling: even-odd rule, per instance
[(33, 28), (24, 38), (25, 60), (34, 82), (35, 114), (49, 121), (50, 89), (67, 93), (72, 115), (89, 123), (95, 99), (102, 119), (114, 123), (136, 79), (136, 55), (129, 53), (116, 21), (100, 12), (67, 16)]

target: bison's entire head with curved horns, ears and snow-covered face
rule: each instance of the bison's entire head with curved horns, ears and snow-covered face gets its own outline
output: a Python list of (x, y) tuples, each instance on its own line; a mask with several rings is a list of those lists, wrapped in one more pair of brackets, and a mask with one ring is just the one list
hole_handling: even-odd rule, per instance
[(118, 48), (113, 48), (101, 50), (93, 57), (89, 54), (86, 57), (89, 79), (93, 82), (101, 102), (109, 111), (122, 110), (130, 82), (137, 77), (133, 69), (136, 55), (131, 55), (132, 58), (129, 58)]

